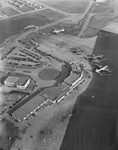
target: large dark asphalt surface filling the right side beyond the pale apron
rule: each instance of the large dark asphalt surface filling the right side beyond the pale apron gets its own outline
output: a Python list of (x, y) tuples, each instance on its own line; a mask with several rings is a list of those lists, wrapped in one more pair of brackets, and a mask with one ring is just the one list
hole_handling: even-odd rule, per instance
[(93, 53), (112, 75), (94, 74), (77, 98), (60, 150), (118, 150), (118, 35), (100, 32)]

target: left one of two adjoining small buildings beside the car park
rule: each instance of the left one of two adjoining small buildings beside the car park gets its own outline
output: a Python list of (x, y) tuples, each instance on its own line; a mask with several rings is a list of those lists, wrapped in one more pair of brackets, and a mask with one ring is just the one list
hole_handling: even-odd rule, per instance
[(8, 76), (7, 79), (4, 81), (4, 85), (9, 86), (9, 87), (13, 87), (13, 86), (15, 86), (15, 84), (18, 80), (19, 80), (19, 77)]

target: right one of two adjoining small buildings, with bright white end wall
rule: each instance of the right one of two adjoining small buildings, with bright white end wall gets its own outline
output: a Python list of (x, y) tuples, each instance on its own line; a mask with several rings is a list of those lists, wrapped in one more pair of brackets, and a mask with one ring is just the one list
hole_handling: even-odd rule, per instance
[(20, 77), (16, 83), (16, 87), (18, 89), (26, 89), (30, 84), (30, 78), (28, 77)]

